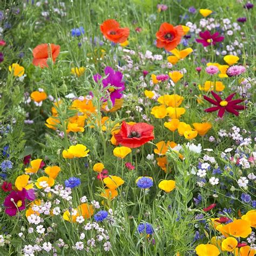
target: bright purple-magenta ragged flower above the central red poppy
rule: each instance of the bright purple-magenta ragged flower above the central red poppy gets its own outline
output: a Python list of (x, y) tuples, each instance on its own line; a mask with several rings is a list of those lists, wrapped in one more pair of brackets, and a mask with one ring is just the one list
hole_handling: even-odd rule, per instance
[[(109, 95), (110, 95), (110, 100), (111, 102), (115, 103), (116, 99), (120, 99), (123, 97), (122, 91), (125, 89), (124, 86), (124, 81), (123, 79), (123, 74), (119, 71), (114, 71), (110, 66), (107, 66), (104, 69), (105, 75), (109, 75), (107, 78), (102, 80), (103, 83), (103, 87), (107, 87), (107, 86), (111, 86), (108, 89)], [(95, 79), (95, 82), (97, 83), (102, 76), (100, 76), (99, 74), (96, 74), (95, 76), (93, 76), (93, 78)], [(112, 87), (113, 86), (113, 87)], [(114, 87), (117, 87), (117, 89), (114, 89)], [(107, 95), (106, 97), (104, 97), (103, 102), (107, 101)]]

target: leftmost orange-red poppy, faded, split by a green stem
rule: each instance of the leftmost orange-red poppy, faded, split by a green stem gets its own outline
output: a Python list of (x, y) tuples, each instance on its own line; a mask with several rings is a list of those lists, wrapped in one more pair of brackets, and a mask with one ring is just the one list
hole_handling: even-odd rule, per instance
[[(51, 44), (52, 61), (55, 63), (56, 58), (59, 56), (60, 46)], [(48, 56), (48, 44), (39, 44), (33, 49), (32, 63), (40, 68), (45, 68), (47, 65)]]

